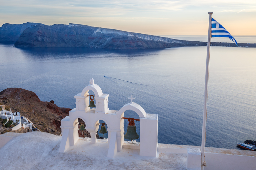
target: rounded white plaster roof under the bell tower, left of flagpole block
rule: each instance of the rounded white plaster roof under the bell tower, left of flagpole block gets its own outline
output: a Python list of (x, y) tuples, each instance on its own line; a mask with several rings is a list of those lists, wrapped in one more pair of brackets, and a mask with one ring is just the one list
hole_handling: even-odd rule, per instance
[(19, 135), (0, 148), (0, 153), (5, 155), (5, 159), (0, 159), (0, 169), (186, 169), (186, 154), (160, 153), (159, 158), (154, 158), (139, 156), (139, 149), (123, 148), (122, 152), (117, 152), (114, 158), (107, 158), (108, 144), (105, 139), (91, 144), (90, 141), (80, 138), (74, 146), (60, 153), (58, 150), (61, 137), (36, 131)]

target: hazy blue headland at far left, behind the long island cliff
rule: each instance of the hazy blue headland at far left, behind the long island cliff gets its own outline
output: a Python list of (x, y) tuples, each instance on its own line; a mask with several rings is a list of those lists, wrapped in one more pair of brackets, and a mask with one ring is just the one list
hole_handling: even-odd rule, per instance
[(26, 28), (32, 28), (39, 23), (3, 24), (0, 27), (0, 42), (16, 42)]

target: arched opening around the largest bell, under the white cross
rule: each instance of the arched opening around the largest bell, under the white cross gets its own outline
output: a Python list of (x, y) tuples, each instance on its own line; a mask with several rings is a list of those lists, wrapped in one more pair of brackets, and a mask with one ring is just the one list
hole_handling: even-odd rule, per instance
[[(139, 115), (138, 115), (136, 112), (134, 112), (133, 110), (126, 110), (126, 111), (122, 114), (121, 117), (140, 119)], [(123, 125), (124, 125), (124, 135), (125, 135), (125, 134), (127, 133), (127, 127), (128, 127), (129, 122), (128, 122), (127, 119), (122, 119), (122, 120), (123, 120), (123, 121), (121, 121), (121, 122), (123, 122)], [(135, 126), (136, 126), (136, 132), (137, 132), (137, 134), (140, 136), (140, 121), (134, 121), (134, 123), (135, 123)], [(131, 140), (129, 140), (129, 139), (125, 139), (125, 138), (124, 138), (124, 140), (131, 142)], [(140, 141), (140, 138), (135, 139), (135, 140), (136, 140), (136, 142), (139, 142), (139, 141)]]

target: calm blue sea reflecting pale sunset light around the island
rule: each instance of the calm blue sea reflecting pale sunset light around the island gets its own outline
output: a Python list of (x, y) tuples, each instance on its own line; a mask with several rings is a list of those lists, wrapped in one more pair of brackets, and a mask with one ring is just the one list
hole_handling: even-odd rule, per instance
[[(207, 36), (162, 37), (207, 41)], [(256, 43), (256, 36), (235, 39)], [(211, 41), (232, 42), (225, 38)], [(110, 94), (110, 110), (119, 110), (133, 95), (133, 102), (146, 113), (158, 114), (158, 143), (200, 146), (206, 50), (206, 46), (112, 50), (0, 44), (0, 91), (23, 88), (35, 92), (41, 101), (53, 100), (59, 107), (73, 109), (74, 96), (93, 78), (103, 93)], [(256, 140), (255, 54), (256, 48), (211, 47), (207, 147), (240, 149), (236, 142)], [(139, 119), (130, 110), (124, 117)], [(124, 120), (125, 132), (127, 125)], [(135, 125), (139, 134), (139, 122)]]

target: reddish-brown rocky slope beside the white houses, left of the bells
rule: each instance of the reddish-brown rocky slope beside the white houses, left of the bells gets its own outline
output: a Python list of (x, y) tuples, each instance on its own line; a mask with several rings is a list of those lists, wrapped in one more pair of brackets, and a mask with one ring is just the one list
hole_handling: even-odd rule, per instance
[(41, 131), (60, 135), (61, 119), (69, 116), (68, 108), (60, 108), (54, 102), (42, 102), (29, 90), (7, 88), (0, 92), (0, 104), (11, 108), (12, 112), (20, 112)]

